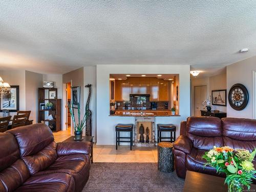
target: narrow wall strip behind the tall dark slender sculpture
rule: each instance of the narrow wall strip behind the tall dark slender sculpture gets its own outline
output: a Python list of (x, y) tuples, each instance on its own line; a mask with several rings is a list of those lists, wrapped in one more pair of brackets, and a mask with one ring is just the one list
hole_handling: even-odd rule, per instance
[[(83, 68), (83, 78), (84, 78), (84, 86), (87, 84), (92, 84), (92, 93), (91, 93), (91, 99), (90, 99), (90, 106), (89, 109), (92, 112), (92, 136), (94, 136), (93, 140), (94, 142), (97, 142), (96, 137), (96, 66), (95, 67), (84, 67)], [(84, 87), (83, 86), (83, 87)], [(86, 102), (88, 99), (89, 89), (84, 88), (84, 109), (86, 108)]]

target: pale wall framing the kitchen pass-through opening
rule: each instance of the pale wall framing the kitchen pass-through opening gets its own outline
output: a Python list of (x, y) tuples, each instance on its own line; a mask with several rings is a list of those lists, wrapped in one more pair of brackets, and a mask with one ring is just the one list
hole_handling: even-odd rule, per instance
[(179, 74), (180, 106), (178, 117), (156, 117), (157, 123), (173, 123), (180, 132), (180, 122), (190, 116), (190, 67), (188, 65), (97, 65), (97, 144), (115, 144), (115, 125), (134, 123), (134, 117), (109, 116), (111, 73), (115, 74)]

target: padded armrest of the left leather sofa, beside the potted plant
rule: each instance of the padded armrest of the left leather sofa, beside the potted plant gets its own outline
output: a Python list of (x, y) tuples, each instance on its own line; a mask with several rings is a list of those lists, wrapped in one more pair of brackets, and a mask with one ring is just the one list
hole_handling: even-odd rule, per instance
[(57, 143), (58, 156), (62, 155), (73, 155), (73, 154), (90, 154), (92, 150), (91, 142), (61, 142)]

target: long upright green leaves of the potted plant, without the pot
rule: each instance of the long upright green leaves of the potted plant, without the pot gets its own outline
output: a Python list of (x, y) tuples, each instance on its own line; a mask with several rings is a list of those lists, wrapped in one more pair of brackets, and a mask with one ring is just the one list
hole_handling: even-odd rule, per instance
[(88, 112), (84, 113), (83, 118), (81, 119), (80, 103), (77, 103), (78, 122), (76, 123), (73, 103), (72, 103), (72, 106), (69, 105), (69, 111), (70, 111), (71, 118), (73, 120), (74, 130), (81, 132), (86, 126), (86, 119), (88, 116)]

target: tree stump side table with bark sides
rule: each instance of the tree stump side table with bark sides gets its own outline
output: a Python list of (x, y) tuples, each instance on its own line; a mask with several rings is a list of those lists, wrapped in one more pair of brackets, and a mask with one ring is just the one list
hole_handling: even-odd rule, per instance
[(170, 173), (174, 171), (173, 144), (170, 142), (160, 142), (157, 146), (158, 170)]

